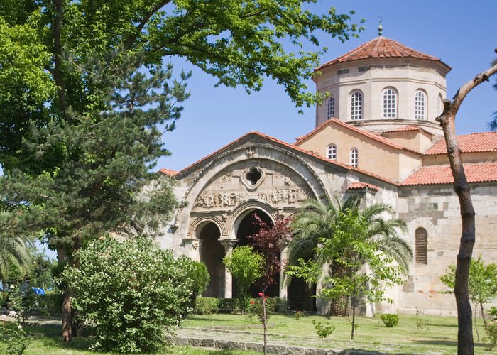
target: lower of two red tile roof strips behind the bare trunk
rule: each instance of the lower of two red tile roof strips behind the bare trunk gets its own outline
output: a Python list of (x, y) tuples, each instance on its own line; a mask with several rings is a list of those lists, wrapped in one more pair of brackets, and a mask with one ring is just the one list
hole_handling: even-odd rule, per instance
[[(468, 182), (497, 181), (497, 163), (464, 164)], [(427, 165), (415, 171), (401, 185), (439, 185), (452, 184), (450, 165)]]

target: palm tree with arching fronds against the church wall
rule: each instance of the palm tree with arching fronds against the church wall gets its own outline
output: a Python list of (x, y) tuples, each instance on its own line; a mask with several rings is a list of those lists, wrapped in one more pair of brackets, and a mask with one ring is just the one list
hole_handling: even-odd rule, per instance
[[(409, 244), (398, 236), (399, 231), (405, 231), (405, 222), (395, 218), (395, 211), (386, 204), (373, 204), (361, 209), (360, 202), (359, 197), (351, 196), (342, 203), (338, 202), (337, 206), (331, 202), (323, 204), (317, 200), (305, 203), (302, 211), (293, 219), (292, 227), (296, 234), (288, 246), (288, 263), (297, 266), (302, 258), (304, 261), (313, 260), (313, 263), (322, 268), (327, 261), (323, 258), (324, 254), (316, 252), (320, 239), (331, 239), (340, 223), (339, 216), (347, 211), (354, 211), (354, 214), (366, 221), (368, 241), (374, 242), (379, 251), (393, 258), (406, 273), (413, 251)], [(344, 272), (343, 263), (329, 263), (329, 273), (332, 275), (337, 276)], [(333, 297), (332, 314), (348, 314), (348, 300), (348, 296), (344, 300)]]

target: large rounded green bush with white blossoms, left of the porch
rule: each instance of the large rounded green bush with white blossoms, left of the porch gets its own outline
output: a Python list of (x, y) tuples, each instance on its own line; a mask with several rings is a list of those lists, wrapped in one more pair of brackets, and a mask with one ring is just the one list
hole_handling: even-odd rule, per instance
[(116, 352), (163, 346), (190, 305), (191, 261), (142, 238), (99, 239), (77, 257), (80, 268), (66, 268), (62, 281), (75, 290), (78, 315), (94, 324), (95, 346)]

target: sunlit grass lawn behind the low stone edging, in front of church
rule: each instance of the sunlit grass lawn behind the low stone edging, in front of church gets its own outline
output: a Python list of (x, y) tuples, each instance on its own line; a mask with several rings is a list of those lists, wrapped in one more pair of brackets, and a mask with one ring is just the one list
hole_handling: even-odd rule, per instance
[[(326, 339), (317, 337), (312, 321), (328, 322), (335, 330)], [(183, 327), (214, 327), (233, 329), (244, 334), (262, 332), (261, 324), (254, 319), (241, 315), (204, 315), (187, 319)], [(457, 353), (457, 318), (400, 315), (399, 324), (387, 328), (378, 317), (356, 317), (356, 333), (354, 342), (350, 341), (351, 322), (346, 317), (321, 317), (309, 315), (296, 320), (292, 315), (272, 315), (269, 319), (269, 342), (285, 343), (297, 346), (324, 347), (329, 349), (362, 349), (386, 353), (426, 354), (437, 352), (442, 354)], [(475, 339), (476, 354), (495, 354), (486, 350), (481, 340), (485, 337), (483, 322), (478, 320), (480, 341)], [(262, 339), (259, 336), (259, 339)]]

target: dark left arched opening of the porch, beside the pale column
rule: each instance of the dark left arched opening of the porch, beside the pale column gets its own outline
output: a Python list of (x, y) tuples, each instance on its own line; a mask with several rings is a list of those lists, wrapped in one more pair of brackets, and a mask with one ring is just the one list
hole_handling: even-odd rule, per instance
[(209, 222), (200, 231), (200, 261), (209, 271), (211, 277), (207, 290), (202, 294), (204, 297), (223, 297), (224, 295), (224, 247), (219, 243), (219, 228), (216, 224)]

